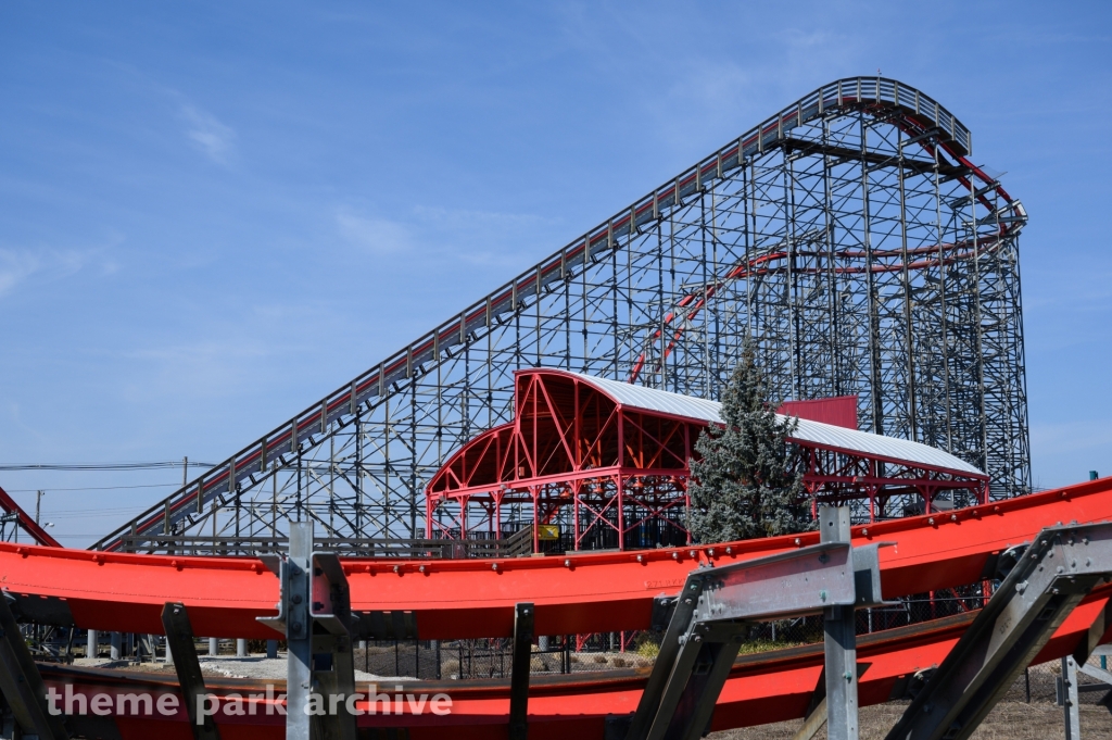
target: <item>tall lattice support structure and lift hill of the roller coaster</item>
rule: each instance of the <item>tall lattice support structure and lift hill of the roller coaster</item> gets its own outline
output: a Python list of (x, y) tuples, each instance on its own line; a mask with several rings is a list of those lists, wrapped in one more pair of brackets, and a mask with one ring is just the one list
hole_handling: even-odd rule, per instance
[(305, 517), (329, 536), (416, 536), (446, 456), (510, 421), (516, 371), (716, 398), (746, 335), (783, 397), (857, 394), (861, 428), (962, 457), (994, 497), (1025, 493), (1026, 215), (971, 148), (914, 88), (826, 85), (95, 547), (129, 532), (280, 534)]

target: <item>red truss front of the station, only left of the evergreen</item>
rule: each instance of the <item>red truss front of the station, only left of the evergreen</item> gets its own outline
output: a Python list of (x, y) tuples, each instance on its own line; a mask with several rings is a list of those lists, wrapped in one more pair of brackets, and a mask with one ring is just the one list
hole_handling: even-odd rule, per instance
[[(537, 525), (570, 505), (576, 545), (592, 526), (624, 522), (619, 535), (646, 519), (677, 526), (662, 515), (687, 504), (687, 461), (704, 426), (624, 407), (567, 373), (519, 372), (514, 421), (465, 445), (429, 483), (430, 536), (449, 526), (466, 536), (476, 509), (480, 527), (500, 531), (507, 504), (532, 509), (535, 540)], [(445, 526), (435, 513), (449, 500), (463, 505)]]

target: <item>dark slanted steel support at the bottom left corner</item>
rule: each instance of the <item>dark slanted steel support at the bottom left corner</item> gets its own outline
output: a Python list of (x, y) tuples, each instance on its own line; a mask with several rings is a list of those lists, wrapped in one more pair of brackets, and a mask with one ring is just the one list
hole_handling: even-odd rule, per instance
[[(8, 608), (7, 593), (0, 596), (0, 693), (3, 693), (14, 724), (22, 730), (23, 737), (37, 736), (39, 740), (69, 738), (61, 717), (50, 713), (47, 685)], [(14, 727), (11, 730), (14, 737), (19, 737)]]

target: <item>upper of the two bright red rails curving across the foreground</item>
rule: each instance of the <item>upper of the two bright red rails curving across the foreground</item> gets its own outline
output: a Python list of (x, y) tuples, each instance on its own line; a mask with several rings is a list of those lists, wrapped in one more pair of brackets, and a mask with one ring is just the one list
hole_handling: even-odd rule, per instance
[[(954, 512), (854, 527), (881, 550), (887, 598), (980, 580), (989, 559), (1056, 522), (1112, 520), (1112, 478)], [(729, 563), (818, 542), (817, 533), (728, 544), (503, 560), (344, 561), (351, 608), (413, 611), (423, 639), (506, 637), (518, 602), (537, 634), (643, 630), (654, 596), (674, 594), (702, 563)], [(78, 628), (161, 633), (161, 609), (185, 603), (198, 634), (267, 638), (278, 581), (250, 558), (99, 553), (0, 543), (0, 584), (67, 600)]]

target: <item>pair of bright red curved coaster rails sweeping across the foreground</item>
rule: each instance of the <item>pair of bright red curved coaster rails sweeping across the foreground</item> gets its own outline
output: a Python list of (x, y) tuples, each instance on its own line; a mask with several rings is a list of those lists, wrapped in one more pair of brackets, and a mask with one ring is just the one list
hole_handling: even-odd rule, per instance
[[(1112, 519), (1112, 478), (990, 503), (969, 510), (855, 527), (854, 543), (893, 542), (882, 549), (884, 595), (943, 589), (985, 578), (995, 555), (1030, 541), (1048, 524), (1080, 524)], [(689, 571), (714, 561), (745, 561), (814, 544), (815, 534), (713, 546), (641, 553), (580, 554), (568, 558), (467, 561), (347, 560), (344, 569), (358, 610), (406, 610), (416, 615), (423, 639), (507, 635), (514, 604), (536, 603), (538, 633), (645, 629), (653, 596), (673, 594)], [(167, 601), (183, 602), (198, 633), (266, 638), (256, 616), (272, 614), (277, 580), (254, 559), (171, 558), (89, 553), (32, 545), (0, 545), (0, 572), (16, 609), (36, 614), (68, 614), (75, 625), (135, 632), (161, 632), (159, 613)], [(1106, 625), (1112, 586), (1101, 586), (1054, 633), (1035, 662), (1065, 655)], [(863, 635), (858, 661), (868, 665), (860, 682), (861, 704), (903, 695), (916, 671), (939, 664), (956, 643), (972, 614)], [(713, 729), (728, 729), (803, 717), (823, 665), (821, 645), (743, 657), (734, 664), (714, 713)], [(116, 671), (42, 667), (47, 684), (59, 694), (173, 692), (172, 681)], [(608, 716), (632, 712), (647, 670), (537, 678), (530, 688), (533, 738), (566, 737), (569, 731), (603, 737)], [(489, 738), (505, 732), (509, 711), (506, 681), (409, 682), (385, 689), (400, 694), (397, 713), (364, 714), (360, 727), (407, 728), (413, 738)], [(365, 687), (360, 687), (366, 690)], [(384, 687), (378, 687), (383, 690)], [(221, 737), (279, 738), (282, 718), (268, 714), (268, 697), (258, 681), (217, 681), (219, 697), (258, 694), (254, 712), (216, 717)], [(408, 706), (405, 694), (445, 692), (450, 716)], [(281, 692), (280, 683), (275, 692)], [(115, 704), (113, 704), (115, 706)], [(143, 716), (138, 709), (113, 717), (121, 738), (190, 737), (185, 713)], [(169, 732), (169, 736), (163, 733)]]

